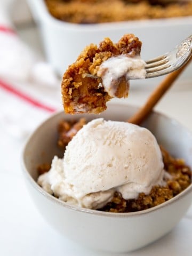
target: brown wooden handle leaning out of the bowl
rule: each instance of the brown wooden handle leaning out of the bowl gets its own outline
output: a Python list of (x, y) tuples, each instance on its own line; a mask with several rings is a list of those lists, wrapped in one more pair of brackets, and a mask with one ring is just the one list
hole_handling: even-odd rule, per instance
[(171, 85), (179, 77), (182, 71), (189, 65), (192, 57), (188, 60), (188, 62), (182, 66), (180, 69), (166, 75), (163, 81), (157, 86), (157, 88), (151, 93), (145, 105), (141, 107), (137, 113), (135, 113), (132, 117), (130, 117), (127, 122), (132, 124), (140, 124), (145, 118), (150, 114), (153, 107), (156, 103), (162, 98), (164, 93), (170, 89)]

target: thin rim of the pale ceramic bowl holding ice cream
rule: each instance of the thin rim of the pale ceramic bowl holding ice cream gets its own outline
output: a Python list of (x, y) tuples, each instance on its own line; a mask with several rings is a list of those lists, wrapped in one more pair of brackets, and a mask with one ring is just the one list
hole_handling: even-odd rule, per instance
[[(110, 105), (113, 106), (126, 106), (126, 107), (134, 107), (134, 108), (138, 108), (138, 106), (133, 105), (133, 104), (127, 104), (127, 103), (110, 103)], [(58, 204), (62, 207), (66, 207), (67, 209), (70, 210), (74, 210), (74, 211), (78, 211), (78, 212), (85, 212), (85, 213), (89, 213), (89, 214), (95, 214), (95, 215), (100, 215), (100, 216), (105, 216), (105, 217), (140, 217), (140, 215), (145, 215), (145, 214), (149, 214), (149, 213), (153, 213), (159, 209), (162, 209), (166, 206), (171, 205), (172, 203), (174, 203), (175, 201), (180, 200), (182, 197), (186, 196), (189, 193), (192, 193), (192, 181), (191, 184), (184, 189), (181, 193), (179, 193), (178, 195), (172, 197), (171, 199), (169, 199), (168, 201), (159, 204), (157, 206), (151, 207), (147, 210), (142, 210), (142, 211), (136, 211), (136, 212), (123, 212), (123, 213), (114, 213), (114, 212), (104, 212), (104, 211), (98, 211), (98, 210), (92, 210), (92, 209), (86, 209), (83, 207), (79, 207), (79, 206), (74, 206), (74, 205), (70, 205), (67, 204), (63, 201), (61, 201), (60, 199), (52, 196), (51, 194), (47, 193), (42, 187), (40, 187), (37, 182), (31, 177), (31, 175), (29, 174), (26, 164), (25, 164), (25, 151), (26, 148), (28, 146), (28, 144), (30, 143), (30, 140), (34, 137), (34, 135), (38, 132), (39, 129), (41, 129), (46, 122), (49, 122), (52, 118), (55, 118), (56, 116), (59, 116), (61, 114), (65, 114), (63, 110), (58, 110), (56, 111), (54, 114), (51, 114), (51, 116), (49, 118), (46, 118), (41, 124), (39, 124), (36, 129), (34, 130), (34, 132), (32, 132), (30, 134), (30, 136), (28, 137), (28, 139), (25, 142), (25, 145), (22, 149), (22, 154), (21, 154), (21, 169), (22, 169), (22, 173), (24, 175), (24, 177), (27, 179), (27, 181), (30, 183), (30, 185), (32, 185), (37, 191), (38, 193), (40, 193), (42, 196), (44, 196), (45, 198), (47, 198), (48, 200), (52, 201), (55, 204)], [(151, 114), (153, 115), (157, 115), (157, 116), (161, 116), (165, 119), (169, 119), (170, 122), (174, 122), (178, 125), (180, 125), (183, 129), (186, 130), (187, 133), (190, 133), (192, 135), (192, 131), (190, 131), (187, 127), (185, 127), (184, 125), (182, 125), (180, 122), (178, 122), (176, 119), (169, 117), (163, 113), (161, 113), (160, 111), (156, 111), (153, 110), (151, 112)]]

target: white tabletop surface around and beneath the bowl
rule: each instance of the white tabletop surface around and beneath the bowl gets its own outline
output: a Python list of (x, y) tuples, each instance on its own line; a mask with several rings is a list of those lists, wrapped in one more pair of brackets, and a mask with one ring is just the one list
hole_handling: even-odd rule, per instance
[[(34, 27), (19, 30), (21, 37), (35, 50), (42, 53), (42, 45)], [(142, 105), (151, 88), (135, 86), (131, 88), (130, 97), (121, 102)], [(0, 105), (6, 92), (0, 90)], [(60, 99), (54, 95), (55, 101)], [(13, 105), (13, 97), (6, 102)], [(18, 105), (16, 113), (23, 111)], [(26, 106), (26, 111), (29, 110)], [(60, 108), (62, 108), (60, 106)], [(192, 81), (176, 84), (158, 103), (156, 109), (179, 120), (192, 131)], [(1, 110), (0, 110), (1, 111)], [(31, 110), (31, 117), (35, 110)], [(37, 125), (47, 115), (36, 119)], [(30, 117), (30, 118), (31, 118)], [(34, 116), (35, 118), (35, 116)], [(26, 121), (28, 122), (28, 120)], [(28, 194), (22, 177), (20, 159), (26, 138), (10, 133), (6, 126), (0, 126), (0, 255), (1, 256), (37, 256), (37, 255), (111, 255), (90, 251), (68, 241), (39, 214)], [(74, 230), (75, 231), (75, 230)], [(123, 234), (122, 234), (123, 235)], [(192, 206), (184, 218), (169, 234), (140, 250), (119, 254), (127, 256), (189, 256), (192, 253)], [(118, 254), (113, 254), (118, 255)]]

